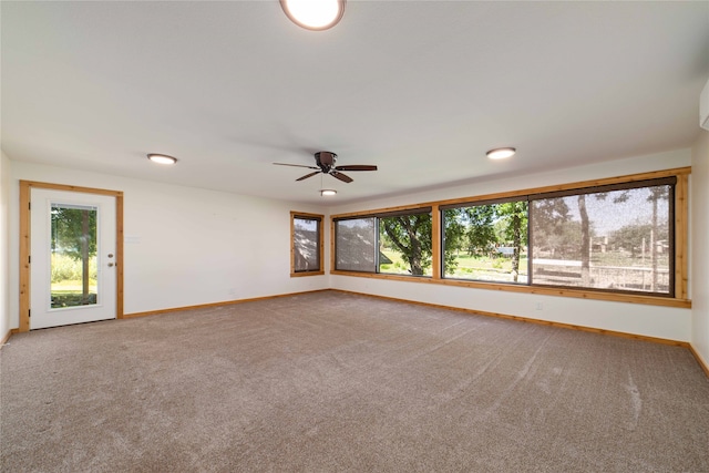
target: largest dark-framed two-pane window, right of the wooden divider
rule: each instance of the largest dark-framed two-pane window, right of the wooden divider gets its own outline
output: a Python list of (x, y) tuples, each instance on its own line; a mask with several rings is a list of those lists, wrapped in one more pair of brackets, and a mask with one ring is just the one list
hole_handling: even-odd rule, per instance
[(675, 183), (672, 177), (442, 206), (443, 275), (671, 296)]

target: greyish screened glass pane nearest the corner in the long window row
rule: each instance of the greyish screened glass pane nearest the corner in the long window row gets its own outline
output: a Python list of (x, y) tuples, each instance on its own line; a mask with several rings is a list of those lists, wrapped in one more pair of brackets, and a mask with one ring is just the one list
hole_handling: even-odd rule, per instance
[(373, 217), (337, 220), (335, 235), (336, 269), (368, 273), (377, 270)]

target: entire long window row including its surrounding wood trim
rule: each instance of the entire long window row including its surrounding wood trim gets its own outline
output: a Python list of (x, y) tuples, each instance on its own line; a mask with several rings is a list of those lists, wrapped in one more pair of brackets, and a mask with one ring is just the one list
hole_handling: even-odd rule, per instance
[(689, 172), (336, 215), (335, 271), (685, 307)]

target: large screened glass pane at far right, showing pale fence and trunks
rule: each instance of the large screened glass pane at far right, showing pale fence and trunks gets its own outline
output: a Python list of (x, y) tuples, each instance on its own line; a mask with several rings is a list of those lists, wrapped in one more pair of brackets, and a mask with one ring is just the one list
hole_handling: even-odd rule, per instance
[(674, 186), (534, 200), (533, 282), (674, 294)]

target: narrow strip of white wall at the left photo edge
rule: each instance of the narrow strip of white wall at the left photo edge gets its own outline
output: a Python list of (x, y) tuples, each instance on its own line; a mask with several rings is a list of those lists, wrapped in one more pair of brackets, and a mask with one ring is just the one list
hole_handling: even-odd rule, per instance
[[(11, 328), (10, 322), (10, 160), (0, 152), (0, 339)], [(14, 326), (17, 327), (17, 326)]]

